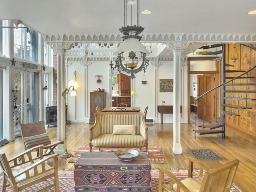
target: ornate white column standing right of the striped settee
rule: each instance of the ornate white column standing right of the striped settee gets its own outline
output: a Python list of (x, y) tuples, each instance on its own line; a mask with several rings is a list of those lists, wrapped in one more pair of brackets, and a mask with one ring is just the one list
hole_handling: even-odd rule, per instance
[(172, 49), (173, 57), (173, 148), (174, 154), (182, 154), (182, 146), (180, 140), (180, 104), (181, 104), (181, 51), (186, 48), (186, 42), (170, 42), (166, 44), (168, 49)]

